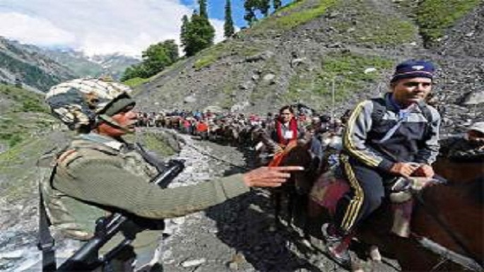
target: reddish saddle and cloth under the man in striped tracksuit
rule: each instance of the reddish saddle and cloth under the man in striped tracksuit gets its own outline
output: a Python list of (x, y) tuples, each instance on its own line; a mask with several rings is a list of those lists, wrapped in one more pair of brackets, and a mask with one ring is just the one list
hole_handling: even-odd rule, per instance
[[(392, 183), (389, 197), (394, 215), (391, 232), (400, 237), (409, 237), (413, 194), (435, 183), (442, 183), (442, 180), (425, 177), (399, 177)], [(350, 191), (348, 181), (340, 175), (336, 175), (335, 170), (329, 170), (314, 183), (309, 196), (320, 206), (326, 208), (331, 215), (334, 215), (336, 204), (348, 191)]]

